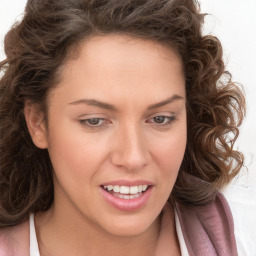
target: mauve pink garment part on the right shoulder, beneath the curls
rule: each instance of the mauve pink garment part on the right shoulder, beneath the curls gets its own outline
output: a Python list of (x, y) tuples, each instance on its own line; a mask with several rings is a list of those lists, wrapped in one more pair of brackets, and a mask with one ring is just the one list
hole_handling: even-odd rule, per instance
[(207, 206), (176, 203), (190, 256), (237, 256), (233, 217), (225, 197), (217, 192)]

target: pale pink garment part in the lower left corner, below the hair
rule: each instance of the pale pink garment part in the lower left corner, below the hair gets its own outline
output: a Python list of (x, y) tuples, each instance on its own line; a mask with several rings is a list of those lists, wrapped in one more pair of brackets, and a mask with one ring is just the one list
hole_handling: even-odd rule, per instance
[(29, 221), (0, 229), (0, 256), (29, 255)]

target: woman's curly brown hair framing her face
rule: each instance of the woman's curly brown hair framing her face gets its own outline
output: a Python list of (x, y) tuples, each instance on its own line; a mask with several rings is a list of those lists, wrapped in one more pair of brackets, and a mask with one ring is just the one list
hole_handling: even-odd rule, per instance
[[(233, 147), (245, 100), (225, 70), (221, 43), (202, 34), (204, 16), (196, 0), (28, 1), (22, 21), (5, 37), (7, 57), (0, 64), (0, 227), (18, 224), (53, 202), (51, 161), (31, 140), (24, 102), (47, 114), (47, 95), (61, 67), (93, 35), (121, 33), (177, 49), (186, 77), (188, 141), (170, 200), (193, 205), (213, 200), (215, 190), (243, 165)], [(185, 174), (200, 178), (202, 186)]]

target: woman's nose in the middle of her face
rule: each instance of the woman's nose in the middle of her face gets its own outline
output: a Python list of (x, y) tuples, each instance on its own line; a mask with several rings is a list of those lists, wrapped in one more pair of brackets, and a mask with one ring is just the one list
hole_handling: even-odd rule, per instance
[(111, 144), (111, 162), (115, 166), (135, 171), (144, 168), (150, 161), (145, 136), (135, 125), (120, 128)]

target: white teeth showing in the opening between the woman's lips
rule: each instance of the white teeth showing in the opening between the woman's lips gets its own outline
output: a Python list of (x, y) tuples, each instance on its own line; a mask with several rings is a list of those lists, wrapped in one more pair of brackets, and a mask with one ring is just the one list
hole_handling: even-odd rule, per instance
[(118, 186), (118, 185), (106, 185), (102, 188), (111, 195), (122, 199), (135, 199), (143, 195), (150, 185), (138, 185), (138, 186)]

